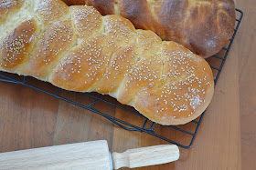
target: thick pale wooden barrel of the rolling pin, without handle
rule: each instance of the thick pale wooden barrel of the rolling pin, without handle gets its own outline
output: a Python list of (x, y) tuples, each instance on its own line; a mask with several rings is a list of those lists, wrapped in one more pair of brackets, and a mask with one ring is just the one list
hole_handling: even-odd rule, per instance
[[(178, 154), (175, 149), (170, 151), (174, 155)], [(174, 161), (175, 157), (169, 157), (169, 160)], [(1, 153), (0, 165), (1, 170), (67, 170), (84, 167), (87, 170), (112, 170), (109, 147), (105, 140)]]

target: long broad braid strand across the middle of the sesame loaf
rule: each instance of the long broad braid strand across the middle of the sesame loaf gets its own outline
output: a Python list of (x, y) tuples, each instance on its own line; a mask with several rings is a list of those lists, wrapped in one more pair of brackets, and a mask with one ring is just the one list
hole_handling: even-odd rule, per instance
[[(83, 7), (83, 10), (88, 12), (88, 7)], [(93, 18), (95, 20), (91, 20), (91, 23), (98, 23), (97, 18)], [(54, 85), (73, 91), (103, 93), (105, 87), (99, 80), (102, 75), (106, 74), (112, 53), (128, 43), (134, 31), (133, 25), (120, 16), (107, 15), (104, 16), (103, 20), (105, 22), (105, 34), (88, 38), (70, 51), (51, 75), (51, 81)], [(98, 26), (92, 27), (91, 32), (95, 33), (97, 29)]]

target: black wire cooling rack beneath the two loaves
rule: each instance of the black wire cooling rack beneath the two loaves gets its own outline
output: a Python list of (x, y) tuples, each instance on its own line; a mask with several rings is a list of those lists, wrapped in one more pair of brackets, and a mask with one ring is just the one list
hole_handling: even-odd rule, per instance
[[(231, 47), (231, 45), (233, 43), (234, 37), (237, 34), (237, 31), (238, 31), (238, 29), (240, 27), (240, 22), (241, 22), (241, 19), (242, 19), (242, 16), (243, 16), (243, 12), (240, 11), (239, 9), (236, 9), (236, 12), (237, 12), (237, 15), (239, 17), (237, 17), (237, 19), (236, 19), (236, 27), (234, 29), (234, 34), (232, 35), (231, 39), (229, 40), (229, 44), (226, 45), (220, 51), (220, 53), (218, 55), (213, 55), (208, 60), (210, 66), (211, 66), (211, 68), (213, 70), (214, 76), (215, 76), (215, 79), (214, 79), (215, 85), (216, 85), (216, 83), (217, 83), (217, 81), (219, 79), (220, 72), (221, 72), (221, 70), (223, 68), (223, 65), (224, 65), (224, 63), (226, 61), (226, 58), (227, 58), (227, 56), (229, 54), (229, 50), (230, 50), (230, 47)], [(3, 74), (3, 73), (0, 72), (0, 77), (1, 77), (0, 78), (0, 82), (7, 82), (7, 83), (14, 83), (14, 84), (19, 84), (19, 85), (26, 85), (28, 87), (36, 89), (37, 91), (46, 93), (48, 95), (52, 95), (52, 96), (54, 96), (56, 98), (59, 98), (60, 100), (69, 102), (72, 105), (77, 105), (77, 106), (79, 106), (81, 108), (90, 110), (93, 113), (102, 115), (105, 118), (107, 118), (108, 120), (110, 120), (113, 124), (119, 125), (120, 127), (122, 127), (125, 130), (144, 132), (144, 133), (147, 133), (149, 135), (154, 135), (155, 137), (163, 139), (163, 140), (165, 140), (165, 141), (167, 141), (169, 143), (172, 143), (172, 144), (175, 144), (175, 145), (178, 145), (180, 147), (187, 148), (187, 149), (190, 148), (194, 144), (198, 128), (199, 128), (199, 126), (200, 126), (200, 124), (202, 122), (202, 119), (203, 119), (203, 117), (204, 117), (204, 115), (206, 113), (206, 111), (205, 111), (196, 120), (193, 120), (190, 123), (188, 123), (189, 131), (187, 129), (185, 130), (183, 128), (183, 126), (185, 126), (185, 125), (178, 125), (178, 126), (174, 126), (174, 125), (165, 125), (164, 126), (163, 125), (165, 128), (172, 128), (173, 129), (172, 133), (169, 133), (169, 134), (167, 133), (168, 136), (163, 136), (163, 135), (161, 135), (161, 133), (155, 131), (156, 124), (154, 122), (149, 121), (144, 115), (141, 115), (138, 112), (136, 112), (136, 111), (134, 111), (134, 110), (132, 110), (130, 108), (127, 108), (127, 107), (125, 107), (123, 105), (115, 104), (113, 102), (110, 102), (110, 101), (104, 99), (104, 97), (102, 97), (102, 95), (91, 95), (89, 93), (84, 93), (84, 95), (88, 95), (93, 100), (90, 103), (89, 106), (85, 106), (85, 105), (81, 105), (81, 104), (79, 104), (79, 103), (77, 103), (75, 101), (72, 101), (72, 100), (69, 100), (69, 99), (67, 99), (65, 97), (60, 96), (59, 92), (62, 91), (62, 89), (60, 89), (60, 88), (58, 88), (58, 90), (56, 92), (52, 93), (52, 92), (48, 92), (46, 90), (43, 90), (41, 88), (38, 88), (38, 87), (36, 87), (34, 85), (29, 85), (27, 83), (27, 76), (19, 76), (19, 80), (17, 80), (16, 78), (12, 78), (9, 75), (6, 75), (6, 74)], [(20, 79), (20, 77), (22, 77), (22, 79)], [(99, 109), (96, 108), (97, 106), (95, 106), (95, 105), (97, 103), (104, 103), (106, 105), (112, 105), (112, 106), (118, 107), (120, 109), (123, 109), (123, 112), (128, 112), (128, 113), (132, 113), (133, 115), (138, 115), (144, 121), (144, 123), (141, 126), (133, 125), (133, 123), (125, 122), (125, 120), (121, 120), (121, 119), (116, 118), (116, 117), (114, 117), (112, 115), (107, 115), (107, 114), (103, 113), (102, 111), (100, 111)], [(175, 131), (177, 131), (177, 132), (182, 134), (182, 135), (179, 135), (179, 137), (185, 137), (185, 135), (189, 135), (190, 136), (190, 139), (189, 139), (187, 145), (184, 144), (184, 141), (176, 141), (174, 139), (170, 139), (171, 135), (176, 135)]]

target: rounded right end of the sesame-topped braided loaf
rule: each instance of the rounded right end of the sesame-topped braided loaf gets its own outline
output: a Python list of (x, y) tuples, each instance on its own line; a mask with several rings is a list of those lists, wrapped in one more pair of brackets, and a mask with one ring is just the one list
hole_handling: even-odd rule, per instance
[(162, 125), (186, 124), (201, 115), (210, 102), (207, 96), (213, 95), (210, 67), (204, 59), (174, 42), (165, 42), (162, 58), (163, 82), (142, 89), (136, 95), (135, 108)]

